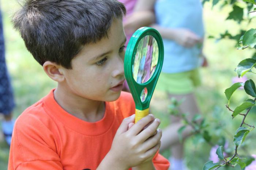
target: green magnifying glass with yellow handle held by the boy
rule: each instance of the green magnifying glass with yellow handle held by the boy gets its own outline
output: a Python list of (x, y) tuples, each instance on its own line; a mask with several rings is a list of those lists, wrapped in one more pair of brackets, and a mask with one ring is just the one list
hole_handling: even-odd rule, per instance
[(149, 113), (149, 104), (163, 65), (163, 40), (154, 28), (134, 32), (125, 52), (124, 74), (135, 101), (135, 123)]

